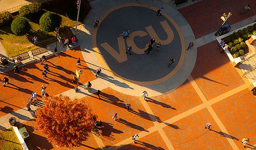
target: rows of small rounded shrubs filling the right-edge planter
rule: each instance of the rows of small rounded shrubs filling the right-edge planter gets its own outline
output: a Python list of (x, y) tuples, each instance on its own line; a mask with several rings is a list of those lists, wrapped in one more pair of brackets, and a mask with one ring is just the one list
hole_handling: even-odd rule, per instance
[(223, 38), (226, 44), (229, 46), (230, 52), (233, 54), (234, 58), (248, 53), (248, 47), (245, 41), (251, 38), (252, 35), (256, 34), (256, 24), (253, 26), (248, 26), (243, 28), (243, 30), (238, 30), (237, 32)]

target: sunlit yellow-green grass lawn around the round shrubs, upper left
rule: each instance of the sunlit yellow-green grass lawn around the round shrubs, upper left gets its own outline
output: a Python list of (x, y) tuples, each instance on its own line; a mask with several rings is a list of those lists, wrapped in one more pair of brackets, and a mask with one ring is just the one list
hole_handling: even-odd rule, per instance
[[(60, 25), (61, 32), (65, 31), (65, 34), (71, 36), (72, 32), (69, 30), (69, 27), (74, 26), (76, 22), (70, 20), (66, 16), (63, 16), (63, 15), (60, 15), (60, 16), (62, 18), (62, 23)], [(17, 36), (13, 34), (10, 29), (10, 25), (5, 25), (2, 28), (0, 28), (0, 41), (3, 44), (3, 47), (8, 57), (25, 53), (27, 51), (53, 43), (55, 41), (56, 33), (44, 32), (39, 26), (39, 19), (40, 17), (37, 17), (35, 19), (29, 19), (31, 29), (27, 34), (23, 36)], [(36, 46), (33, 45), (32, 38), (34, 37), (34, 35), (38, 37), (39, 42), (40, 41), (44, 41), (44, 42)]]

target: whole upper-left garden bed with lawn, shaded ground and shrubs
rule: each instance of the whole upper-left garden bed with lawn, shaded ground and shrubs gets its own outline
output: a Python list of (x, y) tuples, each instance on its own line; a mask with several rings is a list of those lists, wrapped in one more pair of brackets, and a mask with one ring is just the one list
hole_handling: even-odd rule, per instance
[[(74, 12), (71, 13), (71, 10), (68, 9), (69, 13), (66, 14), (66, 9), (70, 6), (72, 6), (72, 8), (75, 8), (73, 9)], [(18, 54), (25, 53), (38, 47), (43, 47), (55, 41), (55, 31), (44, 31), (39, 25), (39, 20), (45, 12), (55, 12), (60, 16), (60, 34), (62, 37), (65, 38), (72, 36), (72, 31), (70, 30), (70, 27), (74, 26), (76, 23), (76, 21), (74, 20), (74, 16), (72, 15), (77, 13), (76, 0), (54, 0), (49, 3), (43, 3), (41, 6), (42, 9), (39, 9), (38, 7), (39, 6), (35, 4), (33, 4), (33, 6), (24, 6), (20, 9), (19, 14), (12, 14), (11, 17), (8, 12), (5, 12), (4, 15), (6, 17), (4, 16), (4, 19), (1, 19), (0, 15), (0, 41), (3, 44), (3, 47), (8, 57), (16, 56)], [(82, 15), (79, 20), (82, 22), (91, 7), (87, 1), (83, 1), (81, 7), (82, 11), (80, 11), (80, 14), (84, 15)], [(67, 17), (68, 15), (71, 19)], [(24, 34), (16, 35), (11, 29), (11, 22), (13, 21), (13, 19), (20, 16), (28, 20), (29, 27), (26, 28), (30, 29)], [(79, 22), (79, 24), (81, 22)], [(38, 37), (39, 42), (34, 45), (32, 38), (35, 35)]]

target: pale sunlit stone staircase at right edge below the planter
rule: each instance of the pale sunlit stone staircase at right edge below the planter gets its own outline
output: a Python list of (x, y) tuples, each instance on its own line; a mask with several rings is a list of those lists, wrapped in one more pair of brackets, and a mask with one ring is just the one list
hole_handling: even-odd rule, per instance
[(243, 71), (243, 77), (248, 78), (250, 83), (256, 81), (256, 53), (249, 53), (244, 57), (243, 63), (239, 65)]

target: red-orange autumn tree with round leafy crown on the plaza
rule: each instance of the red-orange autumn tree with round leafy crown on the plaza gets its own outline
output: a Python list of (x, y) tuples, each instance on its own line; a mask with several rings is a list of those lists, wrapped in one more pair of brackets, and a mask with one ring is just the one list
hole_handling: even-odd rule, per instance
[(36, 111), (38, 128), (59, 147), (79, 147), (93, 128), (90, 106), (66, 96), (50, 96)]

